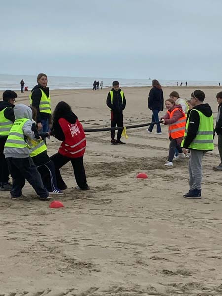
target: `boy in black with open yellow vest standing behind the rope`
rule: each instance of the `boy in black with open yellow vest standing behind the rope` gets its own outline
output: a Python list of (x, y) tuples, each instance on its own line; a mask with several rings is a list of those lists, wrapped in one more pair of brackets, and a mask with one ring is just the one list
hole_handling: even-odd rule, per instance
[[(123, 110), (126, 107), (126, 98), (124, 92), (119, 88), (119, 82), (112, 82), (112, 90), (107, 95), (107, 106), (111, 109), (111, 127), (123, 126)], [(111, 131), (111, 144), (125, 144), (122, 142), (122, 129), (117, 132), (117, 139), (115, 140), (115, 131)]]

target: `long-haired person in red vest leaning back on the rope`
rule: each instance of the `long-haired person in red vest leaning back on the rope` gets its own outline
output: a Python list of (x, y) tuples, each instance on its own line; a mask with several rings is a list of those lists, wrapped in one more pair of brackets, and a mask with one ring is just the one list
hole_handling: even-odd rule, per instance
[(83, 155), (86, 148), (85, 133), (78, 117), (66, 102), (61, 101), (56, 105), (51, 135), (63, 141), (58, 153), (51, 157), (55, 165), (58, 188), (60, 190), (67, 189), (59, 169), (70, 161), (78, 185), (76, 189), (89, 190), (83, 165)]

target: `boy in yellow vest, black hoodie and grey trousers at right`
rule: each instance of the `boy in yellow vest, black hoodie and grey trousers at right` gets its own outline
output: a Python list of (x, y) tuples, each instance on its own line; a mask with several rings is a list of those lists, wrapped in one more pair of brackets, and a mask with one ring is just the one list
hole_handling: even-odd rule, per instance
[(188, 113), (184, 139), (181, 143), (185, 155), (190, 150), (189, 192), (184, 198), (201, 198), (202, 158), (214, 149), (214, 118), (209, 104), (203, 104), (205, 94), (195, 90), (191, 94), (191, 109)]

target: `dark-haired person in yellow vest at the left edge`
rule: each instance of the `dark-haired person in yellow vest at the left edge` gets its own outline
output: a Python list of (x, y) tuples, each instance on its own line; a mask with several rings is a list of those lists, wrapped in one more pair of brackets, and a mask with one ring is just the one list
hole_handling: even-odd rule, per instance
[(15, 121), (13, 108), (16, 98), (16, 92), (6, 90), (3, 92), (3, 101), (0, 101), (0, 190), (2, 191), (12, 189), (12, 185), (8, 182), (10, 173), (4, 156), (4, 145)]

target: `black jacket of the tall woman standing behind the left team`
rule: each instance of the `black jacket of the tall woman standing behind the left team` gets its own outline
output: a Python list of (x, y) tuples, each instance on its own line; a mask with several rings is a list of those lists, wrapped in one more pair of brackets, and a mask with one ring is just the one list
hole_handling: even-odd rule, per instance
[(32, 106), (36, 108), (37, 110), (37, 116), (36, 116), (36, 121), (41, 122), (42, 119), (50, 119), (51, 114), (48, 113), (40, 113), (39, 111), (39, 104), (41, 101), (41, 89), (43, 92), (46, 94), (47, 97), (49, 97), (49, 87), (43, 88), (39, 84), (34, 86), (32, 89)]

